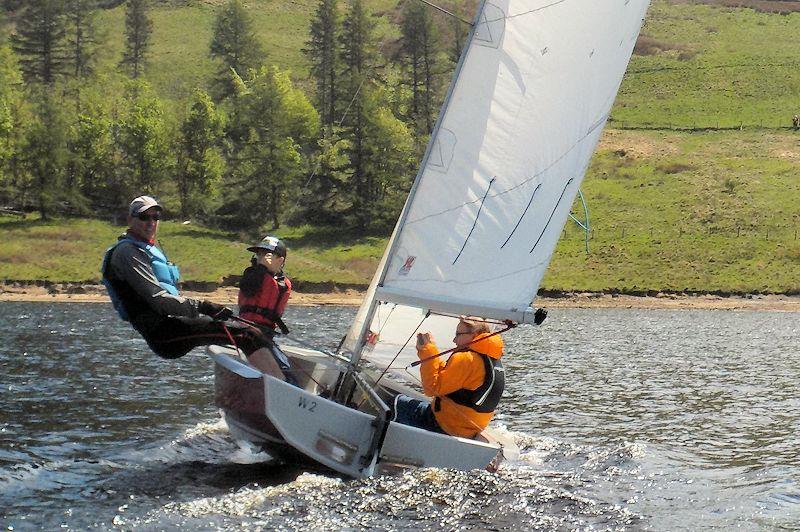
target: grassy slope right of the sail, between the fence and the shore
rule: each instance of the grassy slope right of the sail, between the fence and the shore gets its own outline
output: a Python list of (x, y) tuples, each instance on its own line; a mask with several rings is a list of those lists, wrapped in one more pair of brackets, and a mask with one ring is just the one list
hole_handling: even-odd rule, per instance
[(800, 134), (607, 132), (543, 288), (798, 292), (798, 165)]

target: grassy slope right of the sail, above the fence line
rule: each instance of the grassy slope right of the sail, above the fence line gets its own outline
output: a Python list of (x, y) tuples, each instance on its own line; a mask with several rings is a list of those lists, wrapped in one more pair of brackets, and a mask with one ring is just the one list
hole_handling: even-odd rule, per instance
[(800, 12), (658, 0), (641, 35), (640, 45), (660, 51), (632, 58), (612, 113), (617, 124), (787, 127), (800, 110)]

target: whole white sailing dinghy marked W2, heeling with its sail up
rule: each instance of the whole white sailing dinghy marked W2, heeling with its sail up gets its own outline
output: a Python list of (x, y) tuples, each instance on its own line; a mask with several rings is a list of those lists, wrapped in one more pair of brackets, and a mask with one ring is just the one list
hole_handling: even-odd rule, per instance
[[(300, 386), (211, 347), (235, 438), (352, 477), (483, 469), (514, 456), (390, 420), (422, 398), (414, 338), (457, 316), (533, 323), (533, 300), (608, 119), (649, 0), (493, 0), (478, 9), (408, 200), (338, 352), (284, 346)], [(513, 380), (513, 375), (509, 376)], [(501, 406), (502, 408), (502, 402)]]

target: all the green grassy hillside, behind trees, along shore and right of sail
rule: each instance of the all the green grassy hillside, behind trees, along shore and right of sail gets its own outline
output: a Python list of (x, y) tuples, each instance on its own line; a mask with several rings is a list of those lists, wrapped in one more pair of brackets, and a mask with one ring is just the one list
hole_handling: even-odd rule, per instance
[[(180, 99), (209, 78), (208, 43), (220, 3), (154, 9), (147, 77), (163, 97)], [(316, 1), (246, 4), (270, 61), (304, 80), (300, 50)], [(383, 14), (395, 2), (370, 4)], [(116, 42), (105, 60), (116, 62), (122, 8), (105, 11), (102, 20)], [(383, 35), (396, 31), (387, 16), (376, 20)], [(800, 132), (785, 129), (800, 113), (798, 35), (798, 12), (654, 1), (612, 113), (609, 125), (618, 129), (604, 134), (582, 187), (591, 209), (590, 253), (570, 223), (543, 288), (799, 291)], [(747, 127), (761, 125), (773, 129)], [(119, 230), (88, 220), (0, 217), (0, 279), (96, 280), (102, 252)], [(280, 234), (292, 250), (289, 272), (313, 282), (368, 282), (385, 245), (311, 227)], [(190, 280), (238, 274), (248, 259), (241, 243), (247, 239), (239, 235), (170, 222), (161, 235)]]

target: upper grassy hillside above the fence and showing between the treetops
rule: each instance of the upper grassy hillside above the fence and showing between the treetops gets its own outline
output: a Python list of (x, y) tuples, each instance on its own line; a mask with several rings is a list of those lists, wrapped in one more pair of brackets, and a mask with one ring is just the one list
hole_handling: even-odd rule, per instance
[[(152, 9), (153, 45), (146, 77), (163, 98), (180, 100), (194, 87), (205, 86), (215, 68), (208, 49), (215, 14), (223, 3), (207, 0)], [(760, 9), (787, 4), (738, 3)], [(250, 0), (245, 4), (268, 53), (267, 62), (291, 70), (296, 81), (310, 87), (302, 49), (317, 2)], [(397, 1), (368, 0), (367, 4), (375, 13), (378, 33), (389, 40), (396, 37), (397, 27), (390, 19), (396, 18)], [(625, 127), (788, 126), (791, 115), (800, 111), (797, 4), (798, 11), (780, 14), (654, 0), (612, 121)], [(435, 10), (432, 13), (437, 19), (444, 17)], [(124, 38), (123, 7), (103, 11), (101, 26), (106, 33), (106, 65), (116, 64)], [(383, 45), (384, 51), (391, 48)]]

